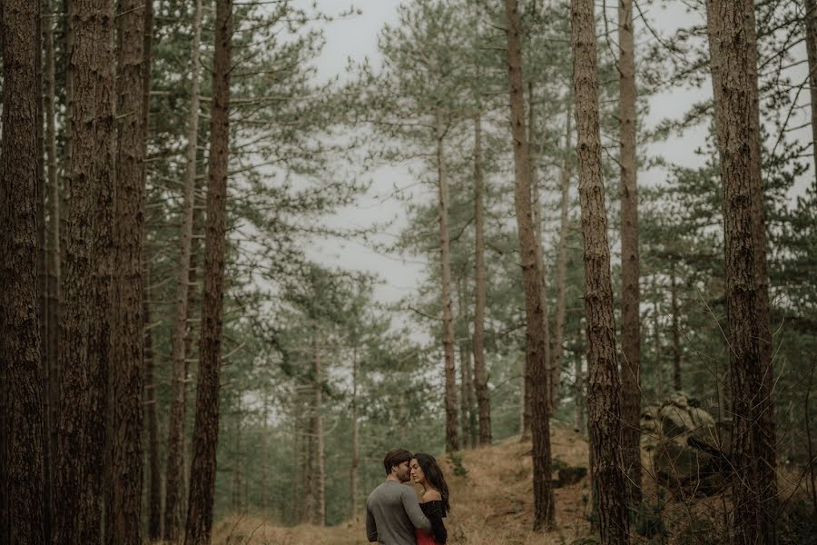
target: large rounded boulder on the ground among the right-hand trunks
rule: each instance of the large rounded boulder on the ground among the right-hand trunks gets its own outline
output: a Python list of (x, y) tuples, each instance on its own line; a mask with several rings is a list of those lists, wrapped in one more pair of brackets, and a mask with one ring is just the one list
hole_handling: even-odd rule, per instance
[(708, 496), (729, 483), (730, 425), (677, 392), (641, 418), (657, 480), (675, 496)]

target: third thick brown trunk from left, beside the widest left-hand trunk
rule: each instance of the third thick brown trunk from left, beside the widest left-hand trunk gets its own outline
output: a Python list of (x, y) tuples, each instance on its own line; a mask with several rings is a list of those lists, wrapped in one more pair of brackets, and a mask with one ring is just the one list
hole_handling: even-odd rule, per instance
[(142, 544), (144, 326), (144, 2), (120, 0), (116, 18), (116, 321), (113, 342), (113, 505), (109, 545)]

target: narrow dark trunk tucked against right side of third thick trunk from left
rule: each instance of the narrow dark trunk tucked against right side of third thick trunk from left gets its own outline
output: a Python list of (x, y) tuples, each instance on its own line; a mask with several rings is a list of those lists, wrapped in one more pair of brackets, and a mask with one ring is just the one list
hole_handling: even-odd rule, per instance
[[(142, 115), (144, 127), (144, 151), (147, 152), (147, 139), (150, 134), (150, 97), (151, 97), (151, 65), (153, 63), (153, 0), (144, 4), (143, 24), (143, 84), (142, 84)], [(147, 173), (145, 170), (145, 182)], [(144, 254), (143, 254), (144, 255)], [(151, 323), (151, 307), (148, 303), (147, 287), (150, 286), (151, 263), (143, 257), (144, 280), (142, 292), (143, 324), (144, 324), (144, 397), (148, 428), (148, 465), (151, 471), (151, 480), (148, 485), (148, 537), (151, 542), (162, 539), (162, 468), (159, 461), (159, 421), (156, 403), (156, 379), (154, 377), (153, 361), (153, 324)]]

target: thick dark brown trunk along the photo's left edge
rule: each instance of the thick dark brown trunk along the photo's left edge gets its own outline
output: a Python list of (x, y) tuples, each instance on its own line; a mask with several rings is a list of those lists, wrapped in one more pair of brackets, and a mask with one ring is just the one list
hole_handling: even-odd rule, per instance
[(0, 542), (44, 543), (44, 410), (38, 306), (37, 187), (41, 180), (40, 4), (7, 0), (0, 15)]

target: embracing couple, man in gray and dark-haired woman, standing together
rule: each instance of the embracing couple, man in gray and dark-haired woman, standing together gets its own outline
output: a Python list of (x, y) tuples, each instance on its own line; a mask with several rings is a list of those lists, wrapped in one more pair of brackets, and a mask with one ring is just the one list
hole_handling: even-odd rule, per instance
[[(443, 517), (450, 510), (448, 484), (433, 456), (405, 449), (383, 460), (386, 481), (366, 500), (366, 536), (382, 545), (439, 545), (448, 539)], [(417, 492), (405, 483), (423, 487)]]

